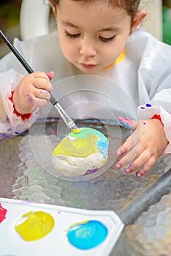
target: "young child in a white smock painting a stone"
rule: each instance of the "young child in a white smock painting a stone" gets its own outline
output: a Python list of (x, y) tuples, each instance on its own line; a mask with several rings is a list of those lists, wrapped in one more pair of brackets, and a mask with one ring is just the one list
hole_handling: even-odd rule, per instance
[[(122, 114), (129, 117), (119, 120), (134, 131), (118, 148), (115, 167), (127, 165), (126, 173), (136, 170), (141, 177), (162, 154), (170, 153), (171, 49), (138, 28), (147, 14), (139, 4), (140, 0), (50, 0), (58, 33), (26, 42), (15, 39), (28, 64), (41, 71), (26, 75), (12, 53), (0, 61), (0, 139), (28, 129), (38, 109), (49, 102), (52, 89), (55, 97), (62, 90), (67, 93), (65, 85), (60, 91), (51, 79), (86, 74), (113, 81), (112, 91), (105, 83), (99, 87), (109, 97), (117, 94), (117, 105), (123, 104)], [(88, 95), (82, 92), (80, 97), (88, 102)], [(121, 111), (115, 109), (115, 116)]]

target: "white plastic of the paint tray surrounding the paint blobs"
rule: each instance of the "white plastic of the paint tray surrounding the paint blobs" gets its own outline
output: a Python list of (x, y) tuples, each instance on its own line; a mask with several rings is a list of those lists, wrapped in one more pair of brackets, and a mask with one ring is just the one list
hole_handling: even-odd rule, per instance
[[(0, 223), (0, 256), (107, 256), (124, 227), (114, 211), (89, 211), (1, 197), (0, 203), (7, 210), (6, 217)], [(28, 211), (44, 211), (50, 214), (55, 222), (53, 230), (37, 241), (24, 241), (15, 231), (15, 225)], [(77, 222), (87, 220), (102, 222), (107, 227), (107, 237), (93, 249), (77, 249), (69, 243), (66, 230)]]

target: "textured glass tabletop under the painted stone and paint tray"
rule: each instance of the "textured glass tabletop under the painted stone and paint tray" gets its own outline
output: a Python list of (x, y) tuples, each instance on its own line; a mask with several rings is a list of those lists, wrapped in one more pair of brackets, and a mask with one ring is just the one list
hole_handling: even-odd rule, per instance
[(50, 174), (54, 173), (50, 154), (58, 143), (56, 134), (61, 138), (66, 133), (63, 125), (56, 120), (39, 120), (29, 132), (1, 141), (1, 197), (113, 210), (126, 227), (111, 255), (170, 255), (170, 155), (158, 160), (142, 178), (134, 173), (126, 175), (115, 169), (115, 153), (130, 131), (115, 124), (78, 121), (78, 126), (99, 129), (108, 136), (107, 170), (85, 181), (64, 180)]

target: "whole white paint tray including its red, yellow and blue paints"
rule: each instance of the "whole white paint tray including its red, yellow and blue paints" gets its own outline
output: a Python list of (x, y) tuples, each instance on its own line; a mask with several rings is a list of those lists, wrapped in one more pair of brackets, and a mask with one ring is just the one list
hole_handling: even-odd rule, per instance
[[(45, 229), (45, 224), (50, 228)], [(88, 211), (0, 198), (0, 237), (3, 237), (0, 256), (107, 256), (123, 227), (114, 211)], [(18, 230), (26, 231), (26, 236), (21, 236)]]

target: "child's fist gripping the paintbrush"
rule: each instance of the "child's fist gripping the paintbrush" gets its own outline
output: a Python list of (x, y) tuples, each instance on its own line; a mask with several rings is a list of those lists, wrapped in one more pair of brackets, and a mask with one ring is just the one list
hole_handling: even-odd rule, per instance
[(47, 105), (53, 89), (50, 83), (53, 76), (53, 72), (46, 74), (39, 71), (25, 75), (13, 94), (15, 110), (23, 115)]

